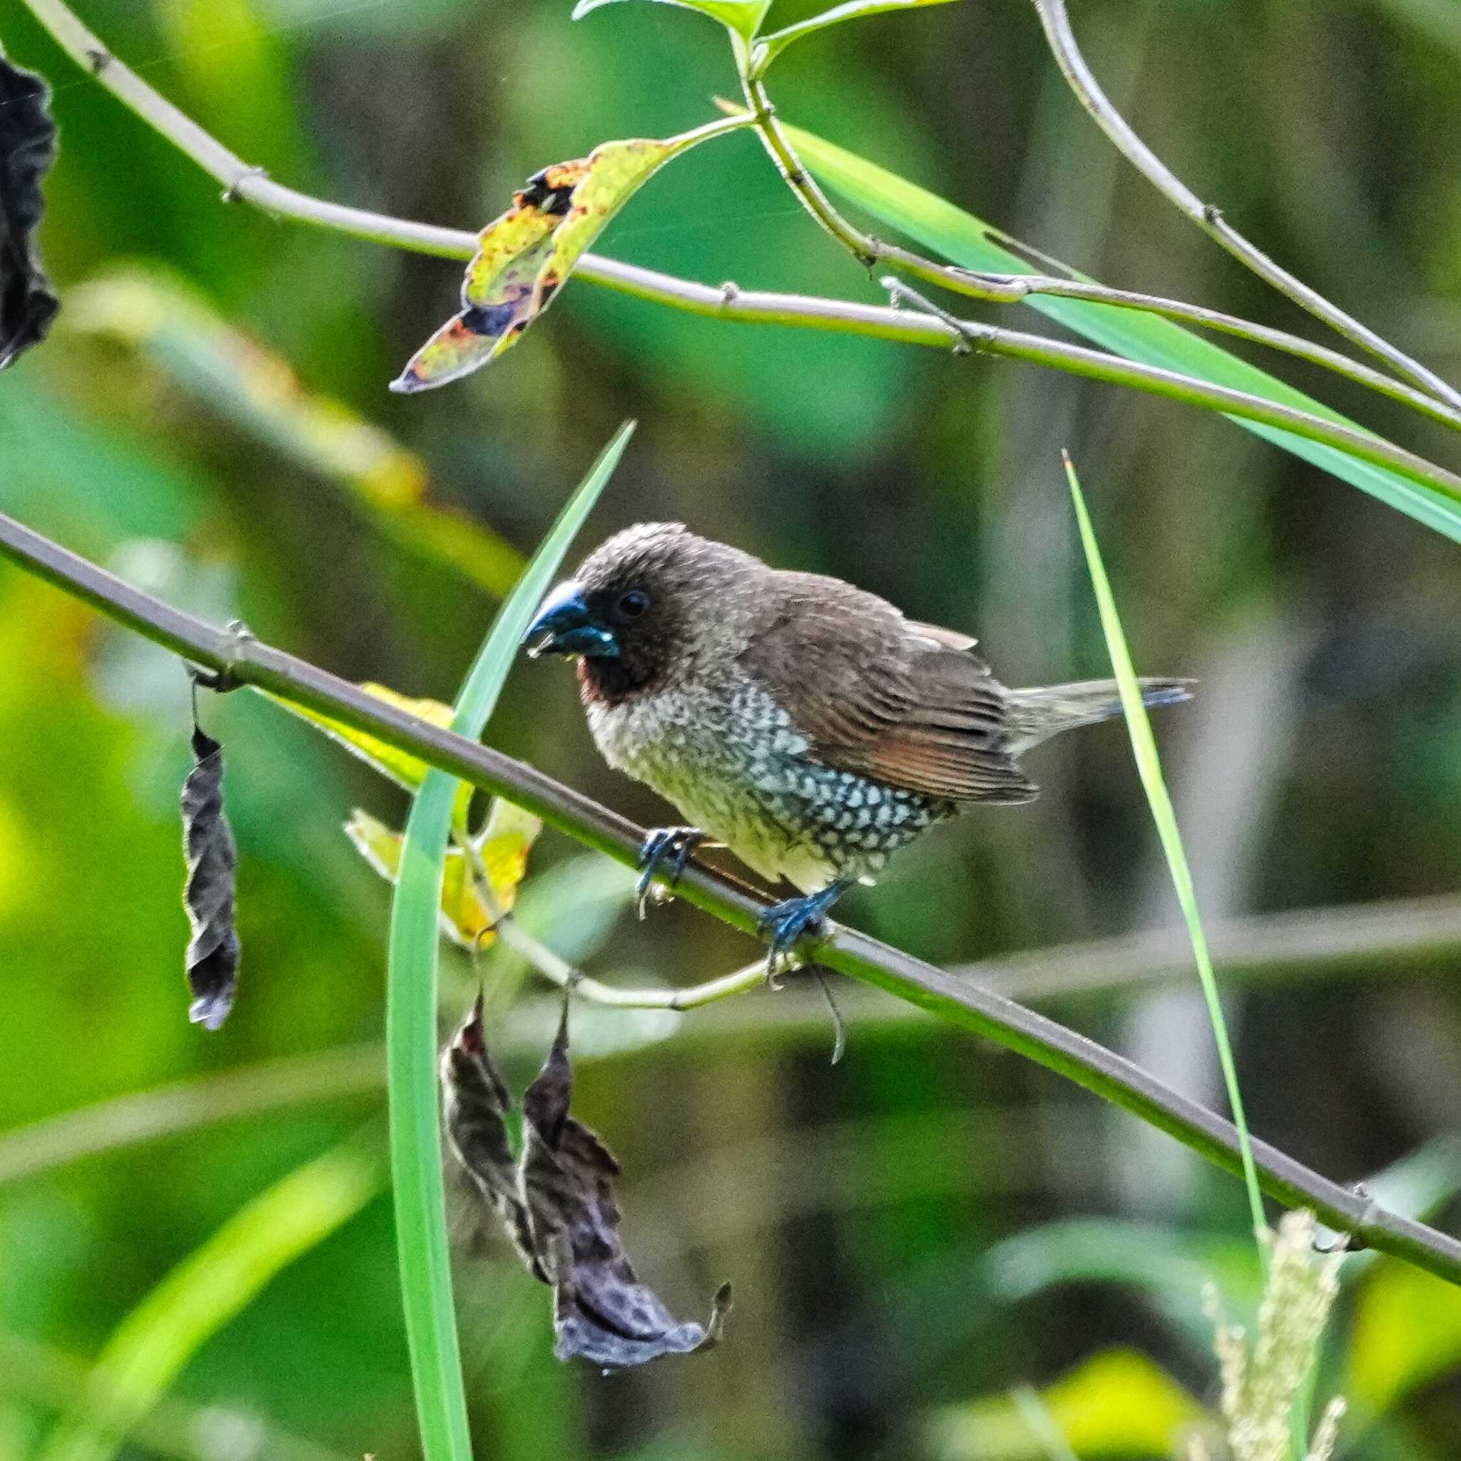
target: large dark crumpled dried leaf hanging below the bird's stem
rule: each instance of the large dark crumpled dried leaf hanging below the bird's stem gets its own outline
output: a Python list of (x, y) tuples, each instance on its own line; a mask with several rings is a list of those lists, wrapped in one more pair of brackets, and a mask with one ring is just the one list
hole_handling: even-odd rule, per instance
[(478, 999), (441, 1062), (451, 1150), (503, 1220), (535, 1277), (552, 1286), (554, 1353), (622, 1369), (662, 1354), (690, 1354), (720, 1338), (730, 1286), (716, 1293), (706, 1325), (676, 1324), (640, 1281), (619, 1237), (609, 1148), (568, 1115), (568, 1007), (538, 1078), (523, 1096), (523, 1151), (507, 1137), (510, 1100), (482, 1037)]

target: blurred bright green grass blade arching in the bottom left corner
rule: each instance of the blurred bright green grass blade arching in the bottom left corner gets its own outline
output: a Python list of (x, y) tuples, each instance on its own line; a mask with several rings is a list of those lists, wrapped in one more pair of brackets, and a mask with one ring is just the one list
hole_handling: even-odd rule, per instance
[(378, 1191), (380, 1161), (349, 1143), (291, 1172), (235, 1213), (117, 1327), (83, 1408), (45, 1461), (108, 1461), (188, 1360), (278, 1274)]

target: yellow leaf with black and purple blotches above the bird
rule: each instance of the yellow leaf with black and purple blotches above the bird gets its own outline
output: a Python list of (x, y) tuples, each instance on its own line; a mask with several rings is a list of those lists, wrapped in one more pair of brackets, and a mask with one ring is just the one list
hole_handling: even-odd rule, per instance
[(462, 282), (462, 311), (411, 358), (394, 392), (431, 390), (497, 359), (552, 302), (574, 264), (637, 188), (676, 153), (703, 142), (701, 127), (657, 142), (603, 142), (587, 158), (557, 162), (513, 194), (513, 206), (478, 235)]

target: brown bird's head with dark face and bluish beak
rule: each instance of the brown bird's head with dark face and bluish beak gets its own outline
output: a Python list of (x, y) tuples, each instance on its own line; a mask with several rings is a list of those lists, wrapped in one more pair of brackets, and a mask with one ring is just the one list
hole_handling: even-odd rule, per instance
[(638, 523), (543, 599), (523, 643), (533, 657), (579, 656), (584, 693), (622, 700), (735, 653), (738, 606), (758, 570), (749, 554), (682, 523)]

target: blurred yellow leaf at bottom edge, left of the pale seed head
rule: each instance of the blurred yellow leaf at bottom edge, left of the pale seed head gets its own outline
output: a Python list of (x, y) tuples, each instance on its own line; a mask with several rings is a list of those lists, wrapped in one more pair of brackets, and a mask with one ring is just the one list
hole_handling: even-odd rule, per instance
[[(1176, 1455), (1183, 1435), (1207, 1419), (1161, 1366), (1137, 1350), (1093, 1354), (1040, 1398), (1083, 1461)], [(931, 1441), (939, 1461), (1042, 1461), (1048, 1455), (1008, 1395), (938, 1411)]]

